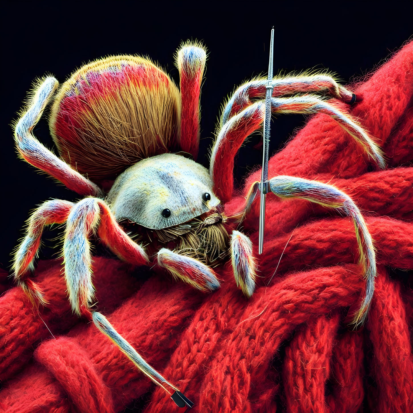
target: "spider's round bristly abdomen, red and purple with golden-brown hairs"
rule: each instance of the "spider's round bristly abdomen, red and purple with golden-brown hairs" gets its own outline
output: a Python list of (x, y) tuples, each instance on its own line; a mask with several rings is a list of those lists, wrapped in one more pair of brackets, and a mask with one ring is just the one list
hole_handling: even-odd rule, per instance
[(99, 182), (178, 147), (180, 95), (149, 59), (121, 55), (83, 66), (61, 86), (50, 116), (60, 156)]

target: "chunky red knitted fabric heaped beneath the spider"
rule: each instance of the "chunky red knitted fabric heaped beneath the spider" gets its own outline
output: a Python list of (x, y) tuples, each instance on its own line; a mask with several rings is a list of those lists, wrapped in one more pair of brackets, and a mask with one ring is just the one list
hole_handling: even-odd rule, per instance
[[(95, 259), (98, 308), (195, 401), (192, 411), (412, 411), (411, 273), (392, 270), (413, 269), (412, 62), (409, 43), (358, 86), (363, 101), (345, 108), (382, 143), (385, 171), (369, 172), (362, 151), (323, 115), (310, 119), (269, 164), (270, 177), (331, 182), (363, 211), (378, 263), (365, 327), (346, 327), (364, 288), (353, 224), (304, 201), (268, 196), (266, 244), (251, 299), (235, 287), (230, 264), (216, 269), (222, 287), (204, 294), (163, 274), (138, 282), (131, 266)], [(243, 202), (235, 194), (226, 212)], [(254, 206), (244, 230), (255, 252), (257, 220)], [(49, 307), (32, 309), (17, 288), (0, 297), (0, 377), (7, 380), (0, 408), (121, 412), (143, 397), (146, 413), (179, 411), (94, 325), (71, 315), (60, 265), (44, 262), (36, 270)]]

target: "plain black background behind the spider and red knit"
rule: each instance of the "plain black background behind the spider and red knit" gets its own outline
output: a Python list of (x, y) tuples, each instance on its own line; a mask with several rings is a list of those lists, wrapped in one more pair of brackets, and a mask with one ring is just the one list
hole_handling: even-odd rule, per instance
[[(207, 152), (221, 104), (235, 85), (267, 70), (272, 26), (275, 73), (328, 68), (347, 83), (368, 74), (408, 40), (413, 33), (409, 3), (170, 2), (167, 8), (155, 1), (145, 6), (139, 2), (3, 3), (0, 265), (9, 269), (10, 253), (36, 205), (50, 198), (78, 199), (17, 159), (10, 123), (34, 78), (53, 74), (62, 83), (83, 62), (126, 53), (149, 55), (178, 83), (174, 52), (182, 40), (202, 40), (209, 57), (202, 86), (199, 161), (208, 166)], [(299, 115), (277, 119), (271, 152), (282, 147), (303, 122)], [(53, 147), (46, 121), (40, 121), (35, 134)], [(238, 182), (261, 162), (261, 152), (252, 149), (257, 139), (240, 151)], [(54, 236), (45, 233), (40, 256), (52, 256)]]

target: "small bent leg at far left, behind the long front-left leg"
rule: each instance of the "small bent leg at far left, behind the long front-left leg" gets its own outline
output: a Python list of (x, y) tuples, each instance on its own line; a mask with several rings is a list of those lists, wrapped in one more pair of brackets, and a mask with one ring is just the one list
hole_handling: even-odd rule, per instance
[(38, 299), (46, 304), (43, 293), (36, 282), (24, 277), (24, 275), (27, 276), (28, 271), (34, 271), (33, 260), (40, 246), (43, 228), (46, 225), (66, 222), (73, 207), (74, 203), (69, 201), (58, 199), (47, 201), (36, 209), (28, 220), (27, 235), (14, 254), (12, 271), (14, 281), (23, 288), (33, 303)]

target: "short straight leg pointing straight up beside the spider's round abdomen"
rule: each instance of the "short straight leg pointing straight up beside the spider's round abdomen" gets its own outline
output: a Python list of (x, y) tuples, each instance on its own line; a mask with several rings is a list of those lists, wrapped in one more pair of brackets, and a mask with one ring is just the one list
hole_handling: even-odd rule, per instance
[(199, 95), (206, 59), (202, 45), (189, 42), (180, 47), (176, 56), (182, 102), (180, 146), (194, 159), (199, 147)]

